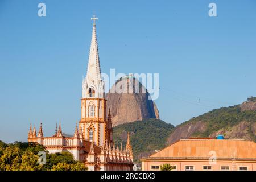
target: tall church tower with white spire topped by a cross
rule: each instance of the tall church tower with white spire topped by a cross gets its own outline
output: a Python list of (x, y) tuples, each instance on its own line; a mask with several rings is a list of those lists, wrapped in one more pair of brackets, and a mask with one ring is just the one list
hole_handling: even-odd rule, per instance
[[(79, 128), (84, 139), (103, 146), (106, 141), (112, 141), (111, 118), (106, 119), (106, 99), (104, 81), (101, 78), (100, 59), (96, 36), (98, 18), (93, 16), (93, 31), (86, 77), (82, 80), (81, 119)], [(109, 115), (110, 113), (109, 113)]]

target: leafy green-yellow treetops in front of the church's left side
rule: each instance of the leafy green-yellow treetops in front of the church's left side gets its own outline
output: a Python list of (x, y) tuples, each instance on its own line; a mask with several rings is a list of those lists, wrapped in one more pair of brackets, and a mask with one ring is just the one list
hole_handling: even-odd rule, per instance
[[(46, 164), (39, 164), (39, 151), (46, 152)], [(37, 143), (6, 144), (0, 141), (0, 171), (85, 171), (87, 169), (84, 163), (76, 162), (73, 155), (68, 152), (49, 154)]]

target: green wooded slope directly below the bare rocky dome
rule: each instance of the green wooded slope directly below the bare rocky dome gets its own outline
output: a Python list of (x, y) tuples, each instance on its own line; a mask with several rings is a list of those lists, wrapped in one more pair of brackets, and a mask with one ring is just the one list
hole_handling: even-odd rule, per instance
[(134, 162), (140, 163), (141, 156), (147, 156), (165, 146), (166, 138), (173, 128), (173, 125), (159, 119), (144, 119), (114, 127), (113, 138), (125, 144), (127, 138), (123, 137), (123, 133), (130, 132)]

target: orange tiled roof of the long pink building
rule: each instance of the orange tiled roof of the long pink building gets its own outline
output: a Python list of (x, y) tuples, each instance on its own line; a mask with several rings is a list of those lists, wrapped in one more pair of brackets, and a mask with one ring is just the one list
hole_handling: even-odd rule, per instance
[(209, 158), (216, 151), (218, 158), (256, 159), (256, 143), (228, 139), (180, 139), (150, 158)]

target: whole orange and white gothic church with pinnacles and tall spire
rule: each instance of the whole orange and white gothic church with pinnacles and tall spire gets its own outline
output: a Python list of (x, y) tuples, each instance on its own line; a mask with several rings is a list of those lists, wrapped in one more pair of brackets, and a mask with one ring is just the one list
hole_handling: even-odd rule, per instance
[[(106, 113), (104, 81), (101, 78), (100, 59), (96, 36), (95, 16), (93, 20), (92, 42), (86, 77), (82, 80), (81, 119), (75, 133), (65, 136), (61, 125), (52, 137), (44, 137), (42, 123), (38, 134), (36, 129), (28, 131), (28, 142), (37, 142), (50, 153), (68, 151), (75, 160), (82, 161), (89, 170), (133, 170), (133, 151), (130, 135), (126, 146), (113, 142), (110, 110)], [(108, 115), (108, 116), (107, 116)]]

